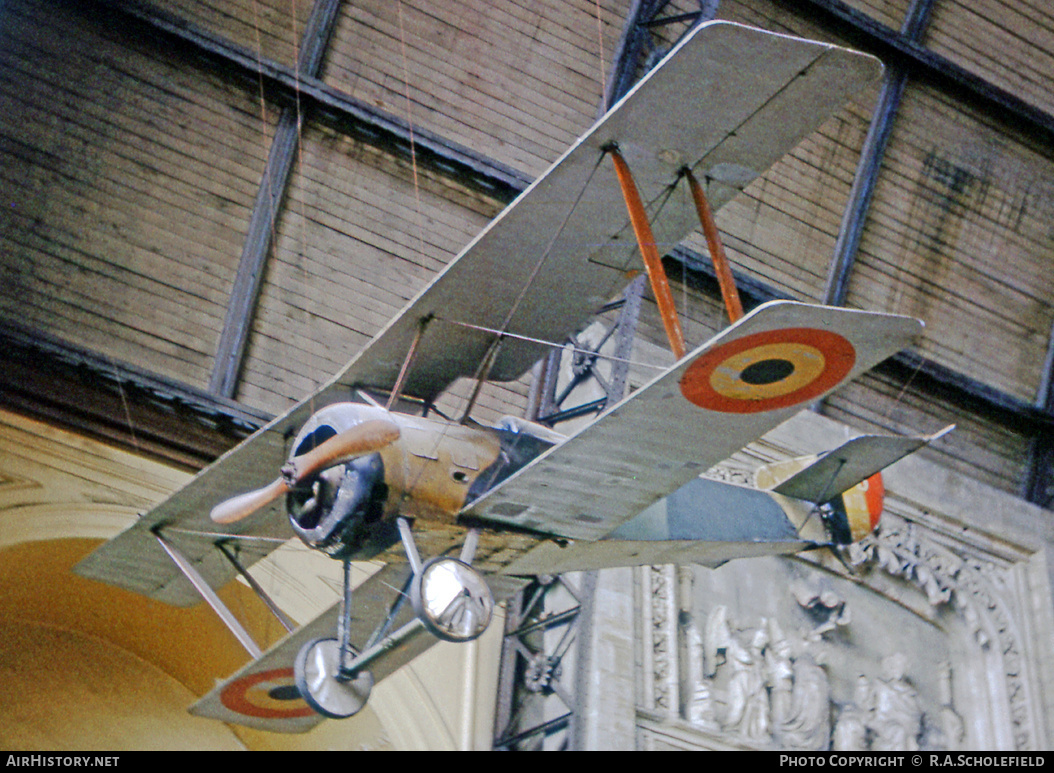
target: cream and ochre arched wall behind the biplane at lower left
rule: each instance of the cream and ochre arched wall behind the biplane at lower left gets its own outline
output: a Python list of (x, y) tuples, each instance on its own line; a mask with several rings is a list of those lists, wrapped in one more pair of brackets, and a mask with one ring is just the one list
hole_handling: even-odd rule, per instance
[[(0, 410), (0, 748), (489, 748), (501, 619), (480, 642), (432, 648), (377, 684), (358, 715), (310, 733), (188, 714), (248, 662), (233, 635), (203, 603), (177, 608), (72, 572), (187, 478)], [(298, 542), (266, 568), (265, 584), (294, 619), (336, 599), (339, 565)], [(261, 645), (285, 634), (243, 583), (220, 596)]]

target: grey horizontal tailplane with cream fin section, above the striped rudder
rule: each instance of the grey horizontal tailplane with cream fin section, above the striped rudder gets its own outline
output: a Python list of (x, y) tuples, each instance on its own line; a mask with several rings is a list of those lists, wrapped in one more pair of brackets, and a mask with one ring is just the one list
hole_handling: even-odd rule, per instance
[(914, 437), (866, 434), (854, 438), (804, 469), (800, 468), (802, 460), (762, 467), (758, 470), (758, 487), (806, 502), (828, 502), (954, 428), (953, 424), (935, 434)]

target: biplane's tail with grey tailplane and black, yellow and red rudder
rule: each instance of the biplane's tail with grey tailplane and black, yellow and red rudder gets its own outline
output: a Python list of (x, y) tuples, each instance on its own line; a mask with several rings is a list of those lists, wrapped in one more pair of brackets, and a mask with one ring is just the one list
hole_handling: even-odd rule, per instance
[(915, 437), (854, 438), (818, 457), (765, 465), (757, 472), (757, 485), (785, 497), (829, 503), (835, 515), (829, 521), (832, 537), (838, 544), (848, 544), (878, 525), (884, 496), (881, 470), (954, 428), (953, 424), (934, 434)]

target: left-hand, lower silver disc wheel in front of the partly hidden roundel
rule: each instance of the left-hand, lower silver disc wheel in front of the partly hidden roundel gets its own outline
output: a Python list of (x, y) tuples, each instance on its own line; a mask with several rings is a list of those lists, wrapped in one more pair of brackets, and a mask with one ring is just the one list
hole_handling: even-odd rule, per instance
[(357, 714), (373, 689), (373, 675), (368, 671), (352, 679), (340, 676), (340, 642), (336, 639), (314, 639), (300, 648), (293, 676), (308, 706), (331, 719)]

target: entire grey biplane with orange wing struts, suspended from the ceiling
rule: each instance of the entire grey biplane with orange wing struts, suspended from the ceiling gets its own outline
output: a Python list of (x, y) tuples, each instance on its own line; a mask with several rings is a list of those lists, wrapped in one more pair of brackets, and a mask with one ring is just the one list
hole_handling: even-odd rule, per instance
[[(701, 475), (922, 324), (793, 302), (741, 315), (729, 303), (734, 324), (685, 351), (658, 255), (697, 216), (713, 230), (714, 209), (880, 73), (836, 45), (698, 26), (340, 373), (77, 571), (172, 604), (204, 596), (256, 656), (192, 712), (300, 732), (357, 712), (375, 679), (437, 639), (479, 636), (521, 577), (713, 566), (871, 533), (879, 470), (936, 436), (857, 438), (763, 468), (756, 487)], [(686, 187), (694, 208), (675, 202)], [(570, 437), (435, 414), (457, 379), (521, 378), (642, 259), (672, 367)], [(344, 563), (343, 600), (258, 653), (212, 588), (290, 529)], [(385, 568), (353, 595), (350, 562), (371, 558)]]

